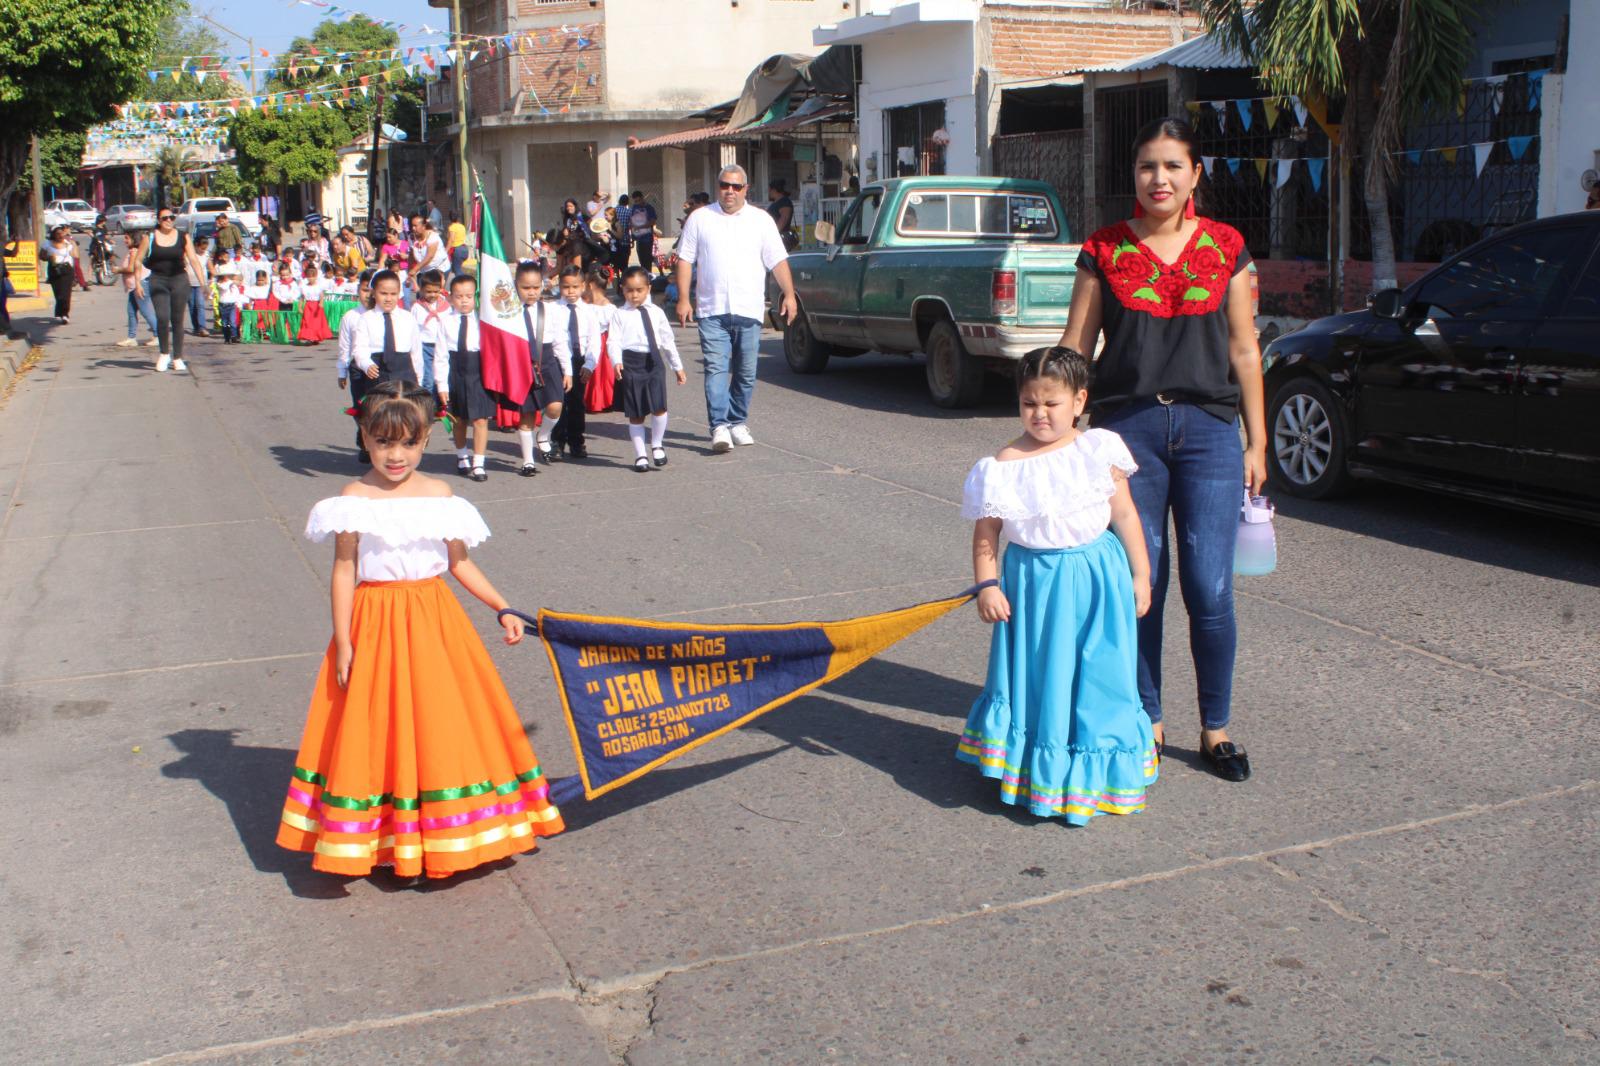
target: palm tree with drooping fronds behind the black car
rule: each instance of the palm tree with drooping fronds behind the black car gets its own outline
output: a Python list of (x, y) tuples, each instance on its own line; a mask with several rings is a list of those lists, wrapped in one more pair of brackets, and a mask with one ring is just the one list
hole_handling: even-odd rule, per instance
[(1200, 0), (1200, 16), (1250, 58), (1269, 93), (1344, 98), (1339, 152), (1365, 152), (1373, 288), (1394, 288), (1389, 189), (1406, 128), (1454, 109), (1482, 0)]

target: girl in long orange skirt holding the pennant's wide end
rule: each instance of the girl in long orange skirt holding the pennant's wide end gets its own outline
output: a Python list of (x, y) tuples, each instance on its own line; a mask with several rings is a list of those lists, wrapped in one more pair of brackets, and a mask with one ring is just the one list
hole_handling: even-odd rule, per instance
[[(440, 387), (448, 387), (440, 383)], [(333, 640), (312, 691), (278, 844), (360, 877), (448, 877), (531, 852), (563, 829), (506, 685), (445, 570), (491, 610), (506, 600), (467, 559), (477, 509), (418, 472), (434, 397), (386, 381), (362, 400), (371, 471), (312, 507), (334, 536)], [(501, 615), (506, 643), (522, 621)]]

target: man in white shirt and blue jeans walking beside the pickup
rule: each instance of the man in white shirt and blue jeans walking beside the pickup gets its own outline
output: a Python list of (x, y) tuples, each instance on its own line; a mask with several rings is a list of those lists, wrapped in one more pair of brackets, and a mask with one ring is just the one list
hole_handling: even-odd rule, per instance
[[(688, 216), (677, 250), (678, 322), (688, 325), (693, 317), (699, 325), (706, 419), (712, 427), (710, 450), (717, 453), (755, 443), (746, 418), (755, 392), (768, 271), (784, 290), (784, 322), (794, 322), (798, 309), (789, 253), (773, 216), (744, 202), (749, 184), (742, 166), (725, 166), (717, 174), (717, 203)], [(696, 275), (691, 304), (690, 282)]]

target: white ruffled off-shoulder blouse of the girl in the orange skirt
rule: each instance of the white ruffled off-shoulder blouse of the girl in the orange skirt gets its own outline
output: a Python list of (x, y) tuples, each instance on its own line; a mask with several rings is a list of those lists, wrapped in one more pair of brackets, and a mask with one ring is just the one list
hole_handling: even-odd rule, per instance
[(450, 570), (446, 541), (477, 547), (490, 527), (461, 496), (333, 496), (306, 519), (306, 539), (322, 543), (334, 533), (360, 533), (357, 581), (422, 581)]

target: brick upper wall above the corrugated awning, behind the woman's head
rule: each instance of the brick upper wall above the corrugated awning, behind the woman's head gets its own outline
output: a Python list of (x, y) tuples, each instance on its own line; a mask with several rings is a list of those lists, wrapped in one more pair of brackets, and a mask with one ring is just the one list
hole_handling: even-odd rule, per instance
[(1195, 18), (1125, 11), (1050, 11), (984, 5), (990, 62), (1000, 77), (1037, 78), (1136, 59), (1203, 32)]

